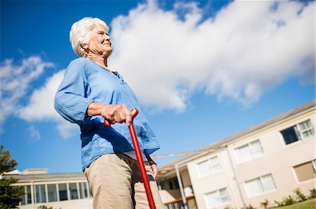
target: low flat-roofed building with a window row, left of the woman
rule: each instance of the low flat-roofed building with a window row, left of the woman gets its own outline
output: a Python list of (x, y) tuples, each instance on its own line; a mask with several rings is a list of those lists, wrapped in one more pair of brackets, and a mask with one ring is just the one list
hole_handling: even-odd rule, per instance
[(37, 209), (49, 206), (54, 209), (93, 208), (92, 197), (84, 173), (49, 174), (48, 169), (26, 169), (6, 173), (5, 178), (15, 178), (15, 186), (24, 187), (25, 194), (18, 206), (21, 209)]

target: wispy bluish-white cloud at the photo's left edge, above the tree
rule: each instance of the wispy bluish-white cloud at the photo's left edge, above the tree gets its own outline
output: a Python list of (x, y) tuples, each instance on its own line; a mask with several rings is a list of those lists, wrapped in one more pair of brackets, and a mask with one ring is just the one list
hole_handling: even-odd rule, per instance
[(22, 96), (25, 96), (30, 83), (53, 64), (33, 56), (22, 59), (22, 63), (18, 65), (13, 64), (13, 59), (5, 59), (0, 66), (0, 132), (2, 132), (4, 121), (10, 115), (15, 115), (18, 103)]

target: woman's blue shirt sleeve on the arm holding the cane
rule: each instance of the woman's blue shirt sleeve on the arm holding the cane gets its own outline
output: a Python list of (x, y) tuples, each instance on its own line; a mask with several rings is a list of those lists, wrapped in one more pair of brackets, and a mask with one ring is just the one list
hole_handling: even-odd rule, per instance
[(87, 90), (84, 65), (80, 59), (75, 59), (67, 67), (65, 77), (55, 94), (55, 110), (66, 120), (79, 125), (89, 120), (86, 110), (93, 101), (87, 98)]

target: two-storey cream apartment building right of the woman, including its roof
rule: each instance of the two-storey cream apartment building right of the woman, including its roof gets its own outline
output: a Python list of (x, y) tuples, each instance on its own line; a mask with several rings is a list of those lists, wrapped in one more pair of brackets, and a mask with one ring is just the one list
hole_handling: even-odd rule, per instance
[(261, 207), (315, 188), (315, 101), (159, 168), (166, 208)]

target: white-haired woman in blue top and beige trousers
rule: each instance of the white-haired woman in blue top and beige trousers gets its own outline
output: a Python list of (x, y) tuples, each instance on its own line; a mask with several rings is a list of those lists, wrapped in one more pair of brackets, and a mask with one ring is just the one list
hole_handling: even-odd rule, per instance
[[(143, 151), (145, 168), (157, 208), (164, 208), (159, 196), (157, 165), (150, 154), (159, 149), (157, 138), (141, 111), (135, 94), (119, 73), (111, 71), (111, 39), (107, 24), (84, 17), (75, 22), (70, 41), (79, 58), (67, 66), (55, 109), (81, 131), (81, 162), (93, 195), (93, 208), (149, 208), (128, 126), (131, 109), (138, 109), (133, 120)], [(105, 127), (104, 120), (112, 127)], [(127, 125), (126, 125), (127, 124)]]

